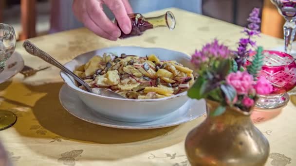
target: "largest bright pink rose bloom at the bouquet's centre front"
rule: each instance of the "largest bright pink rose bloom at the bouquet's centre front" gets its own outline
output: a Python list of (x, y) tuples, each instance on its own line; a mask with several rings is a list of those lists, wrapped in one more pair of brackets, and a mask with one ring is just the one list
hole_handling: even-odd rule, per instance
[(246, 71), (230, 73), (226, 77), (226, 83), (233, 86), (238, 95), (247, 94), (252, 88), (253, 81), (253, 76)]

